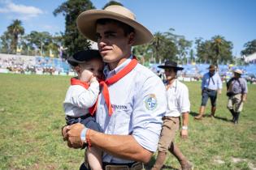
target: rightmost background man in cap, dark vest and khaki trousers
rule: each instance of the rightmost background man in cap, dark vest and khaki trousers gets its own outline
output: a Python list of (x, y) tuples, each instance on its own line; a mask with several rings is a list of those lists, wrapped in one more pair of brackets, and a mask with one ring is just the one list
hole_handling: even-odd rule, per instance
[(243, 104), (247, 99), (247, 83), (241, 78), (242, 70), (234, 70), (234, 77), (227, 83), (228, 110), (232, 113), (232, 122), (238, 123), (239, 115), (243, 109)]

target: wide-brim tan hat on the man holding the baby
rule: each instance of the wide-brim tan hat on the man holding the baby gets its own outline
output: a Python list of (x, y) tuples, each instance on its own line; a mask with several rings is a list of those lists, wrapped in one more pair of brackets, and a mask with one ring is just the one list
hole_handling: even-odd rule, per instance
[(86, 38), (96, 42), (96, 21), (98, 19), (115, 19), (134, 28), (136, 35), (133, 45), (143, 45), (154, 38), (147, 28), (136, 21), (132, 11), (118, 5), (107, 6), (104, 10), (82, 12), (76, 19), (77, 28)]

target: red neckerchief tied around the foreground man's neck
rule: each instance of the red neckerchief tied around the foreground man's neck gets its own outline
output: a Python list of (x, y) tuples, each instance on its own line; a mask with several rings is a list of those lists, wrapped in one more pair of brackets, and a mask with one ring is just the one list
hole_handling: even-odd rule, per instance
[[(112, 107), (111, 107), (111, 100), (110, 100), (110, 94), (109, 94), (109, 91), (108, 91), (108, 86), (118, 82), (119, 79), (124, 78), (124, 76), (126, 74), (128, 74), (131, 70), (134, 69), (135, 66), (137, 66), (137, 63), (138, 63), (137, 62), (137, 58), (133, 57), (132, 61), (127, 66), (125, 66), (124, 69), (120, 70), (117, 74), (115, 74), (111, 78), (106, 79), (105, 81), (101, 81), (100, 82), (100, 85), (102, 86), (102, 94), (103, 94), (103, 97), (105, 99), (106, 106), (108, 108), (108, 115), (109, 116), (112, 115), (113, 110), (112, 110)], [(93, 105), (93, 107), (89, 109), (90, 113), (95, 113), (95, 111), (97, 109), (97, 103), (98, 102), (96, 102)]]

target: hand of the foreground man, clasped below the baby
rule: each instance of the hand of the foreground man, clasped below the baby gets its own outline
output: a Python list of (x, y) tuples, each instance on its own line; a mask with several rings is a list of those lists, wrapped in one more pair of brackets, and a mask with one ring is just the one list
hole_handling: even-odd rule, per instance
[(67, 126), (67, 146), (73, 148), (81, 148), (84, 145), (84, 141), (81, 140), (80, 134), (84, 130), (85, 125), (76, 123), (74, 125)]

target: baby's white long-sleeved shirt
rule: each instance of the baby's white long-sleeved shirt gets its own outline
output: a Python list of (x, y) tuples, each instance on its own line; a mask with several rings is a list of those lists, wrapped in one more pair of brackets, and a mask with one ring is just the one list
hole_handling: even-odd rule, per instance
[(63, 102), (65, 114), (70, 117), (85, 116), (89, 113), (89, 108), (95, 104), (98, 93), (98, 82), (91, 83), (88, 89), (80, 85), (70, 86)]

